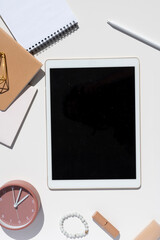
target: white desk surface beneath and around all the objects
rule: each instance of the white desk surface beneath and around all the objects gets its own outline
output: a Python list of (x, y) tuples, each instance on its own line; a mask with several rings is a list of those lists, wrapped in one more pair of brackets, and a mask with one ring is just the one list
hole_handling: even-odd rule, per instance
[[(119, 229), (122, 240), (134, 239), (153, 219), (160, 223), (160, 52), (107, 25), (107, 19), (114, 20), (160, 43), (160, 2), (68, 0), (68, 3), (80, 28), (36, 58), (43, 64), (48, 58), (139, 58), (142, 187), (139, 190), (103, 191), (48, 189), (43, 77), (36, 84), (38, 94), (13, 149), (0, 145), (0, 185), (12, 179), (29, 181), (40, 193), (42, 209), (35, 222), (25, 230), (9, 231), (0, 227), (1, 240), (64, 240), (59, 220), (75, 211), (88, 221), (90, 232), (84, 238), (86, 240), (111, 239), (92, 221), (96, 210)], [(2, 21), (0, 26), (6, 29)]]

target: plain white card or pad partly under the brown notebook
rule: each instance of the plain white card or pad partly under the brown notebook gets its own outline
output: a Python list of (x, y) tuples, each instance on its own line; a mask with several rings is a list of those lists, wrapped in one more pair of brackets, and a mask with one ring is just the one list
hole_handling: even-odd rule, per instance
[(23, 94), (6, 111), (0, 111), (0, 143), (12, 146), (36, 92), (35, 87), (27, 86)]

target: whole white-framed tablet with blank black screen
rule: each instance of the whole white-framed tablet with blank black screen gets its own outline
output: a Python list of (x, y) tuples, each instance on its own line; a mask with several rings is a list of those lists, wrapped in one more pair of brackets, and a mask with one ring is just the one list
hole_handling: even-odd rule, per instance
[(47, 60), (50, 189), (140, 187), (137, 58)]

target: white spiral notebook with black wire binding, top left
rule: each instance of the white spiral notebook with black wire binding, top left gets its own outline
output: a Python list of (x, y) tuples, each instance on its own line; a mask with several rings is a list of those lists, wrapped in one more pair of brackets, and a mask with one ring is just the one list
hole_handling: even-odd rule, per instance
[(0, 15), (15, 39), (31, 53), (78, 28), (66, 0), (1, 0)]

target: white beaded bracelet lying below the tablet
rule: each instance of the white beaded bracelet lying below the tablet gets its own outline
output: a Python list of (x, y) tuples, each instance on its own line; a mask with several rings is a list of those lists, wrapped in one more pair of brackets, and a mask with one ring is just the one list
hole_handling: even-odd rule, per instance
[[(75, 234), (70, 234), (67, 231), (65, 231), (64, 229), (64, 221), (68, 218), (72, 218), (72, 217), (77, 217), (83, 224), (84, 224), (84, 232), (82, 233), (75, 233)], [(60, 220), (60, 230), (61, 232), (67, 237), (67, 238), (83, 238), (85, 237), (88, 232), (89, 232), (89, 227), (88, 227), (88, 223), (86, 222), (86, 220), (78, 213), (71, 213), (71, 214), (67, 214), (65, 215), (61, 220)]]

